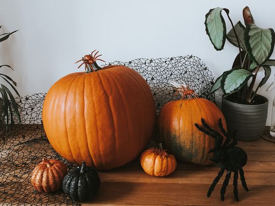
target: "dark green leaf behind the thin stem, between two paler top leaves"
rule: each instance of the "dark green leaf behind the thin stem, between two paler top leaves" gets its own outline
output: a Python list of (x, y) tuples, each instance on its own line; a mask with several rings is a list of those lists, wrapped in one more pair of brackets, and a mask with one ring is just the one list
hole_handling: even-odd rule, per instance
[[(240, 47), (242, 48), (242, 50), (246, 51), (246, 47), (244, 44), (244, 25), (242, 25), (242, 23), (238, 21), (234, 28), (239, 39)], [(229, 31), (226, 38), (231, 44), (233, 44), (236, 47), (239, 47), (233, 28)]]

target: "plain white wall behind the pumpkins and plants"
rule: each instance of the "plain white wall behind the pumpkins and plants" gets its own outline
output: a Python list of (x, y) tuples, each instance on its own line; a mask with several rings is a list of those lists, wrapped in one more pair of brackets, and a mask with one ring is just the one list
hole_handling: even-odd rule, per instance
[[(205, 14), (225, 7), (236, 23), (246, 5), (259, 26), (275, 28), (272, 0), (0, 0), (2, 31), (20, 29), (0, 44), (0, 63), (14, 67), (15, 72), (5, 72), (18, 82), (22, 96), (47, 92), (59, 78), (78, 71), (73, 63), (93, 49), (106, 62), (194, 54), (217, 76), (231, 67), (238, 50), (228, 43), (223, 51), (214, 50)], [(272, 79), (259, 90), (269, 101), (275, 92), (265, 89)], [(271, 104), (267, 124), (270, 109)]]

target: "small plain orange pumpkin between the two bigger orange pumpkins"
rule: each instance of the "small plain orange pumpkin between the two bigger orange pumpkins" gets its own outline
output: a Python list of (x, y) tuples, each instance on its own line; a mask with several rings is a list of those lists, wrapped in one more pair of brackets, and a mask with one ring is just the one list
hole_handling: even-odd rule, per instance
[(173, 173), (177, 167), (176, 158), (159, 148), (150, 148), (141, 155), (141, 166), (147, 174), (152, 176), (166, 176)]

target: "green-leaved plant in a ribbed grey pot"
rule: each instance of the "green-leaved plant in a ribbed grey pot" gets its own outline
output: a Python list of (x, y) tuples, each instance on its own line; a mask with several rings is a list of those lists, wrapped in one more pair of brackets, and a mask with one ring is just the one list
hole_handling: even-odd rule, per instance
[[(228, 33), (223, 11), (232, 25)], [(205, 27), (216, 50), (224, 48), (226, 39), (238, 48), (232, 68), (216, 79), (210, 93), (223, 91), (222, 111), (229, 133), (236, 130), (237, 139), (250, 141), (258, 139), (265, 128), (268, 100), (257, 91), (269, 78), (270, 66), (275, 66), (275, 60), (269, 59), (275, 35), (272, 28), (255, 24), (249, 7), (242, 13), (244, 25), (240, 21), (234, 25), (228, 9), (210, 9), (205, 15)], [(259, 70), (264, 70), (264, 77), (255, 85)]]

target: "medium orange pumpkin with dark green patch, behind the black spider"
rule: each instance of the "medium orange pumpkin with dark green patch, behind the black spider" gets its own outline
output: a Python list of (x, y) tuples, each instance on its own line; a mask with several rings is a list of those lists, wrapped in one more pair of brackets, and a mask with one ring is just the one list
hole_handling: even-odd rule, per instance
[(195, 123), (203, 118), (214, 130), (221, 132), (217, 122), (219, 118), (226, 129), (222, 111), (211, 101), (198, 98), (188, 86), (173, 83), (181, 100), (171, 101), (164, 105), (158, 116), (157, 138), (172, 151), (177, 159), (199, 165), (209, 165), (214, 148), (214, 139), (199, 131)]

